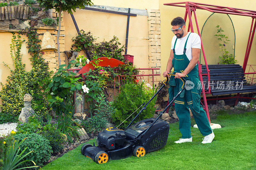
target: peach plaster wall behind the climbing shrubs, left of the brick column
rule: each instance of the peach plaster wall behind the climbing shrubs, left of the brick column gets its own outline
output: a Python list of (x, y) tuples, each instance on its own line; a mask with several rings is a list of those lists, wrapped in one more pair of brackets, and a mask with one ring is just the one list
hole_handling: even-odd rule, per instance
[[(76, 10), (74, 13), (79, 30), (90, 31), (96, 42), (109, 41), (115, 35), (125, 45), (127, 16), (98, 11)], [(65, 50), (70, 50), (72, 38), (77, 35), (70, 14), (64, 12)], [(127, 54), (134, 55), (134, 65), (148, 67), (148, 17), (130, 17)], [(83, 53), (81, 53), (83, 54)], [(80, 54), (80, 55), (81, 55)]]

